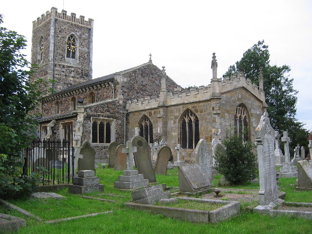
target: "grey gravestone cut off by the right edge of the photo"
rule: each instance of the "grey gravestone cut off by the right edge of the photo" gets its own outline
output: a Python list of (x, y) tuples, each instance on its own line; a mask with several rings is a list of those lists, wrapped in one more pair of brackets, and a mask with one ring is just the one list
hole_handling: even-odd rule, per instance
[(297, 191), (312, 191), (312, 165), (307, 160), (298, 162)]

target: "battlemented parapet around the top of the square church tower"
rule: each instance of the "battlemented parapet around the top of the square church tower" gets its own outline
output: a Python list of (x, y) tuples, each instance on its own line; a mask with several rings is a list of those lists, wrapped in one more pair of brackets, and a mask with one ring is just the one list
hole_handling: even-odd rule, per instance
[(68, 22), (76, 23), (83, 25), (85, 27), (93, 28), (93, 20), (88, 19), (87, 21), (84, 20), (84, 16), (80, 16), (79, 18), (76, 18), (75, 13), (71, 13), (70, 16), (67, 15), (67, 11), (62, 10), (61, 12), (58, 12), (58, 8), (52, 7), (51, 12), (47, 11), (45, 14), (42, 14), (41, 17), (38, 17), (37, 20), (33, 21), (33, 29), (39, 27), (42, 23), (46, 22), (50, 19), (61, 19)]

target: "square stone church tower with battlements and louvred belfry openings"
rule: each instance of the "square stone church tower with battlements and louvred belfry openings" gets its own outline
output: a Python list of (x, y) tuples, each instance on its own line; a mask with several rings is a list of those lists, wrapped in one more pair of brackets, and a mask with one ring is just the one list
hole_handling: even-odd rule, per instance
[(92, 19), (52, 7), (33, 21), (31, 63), (38, 67), (32, 79), (55, 80), (54, 92), (91, 80), (92, 40)]

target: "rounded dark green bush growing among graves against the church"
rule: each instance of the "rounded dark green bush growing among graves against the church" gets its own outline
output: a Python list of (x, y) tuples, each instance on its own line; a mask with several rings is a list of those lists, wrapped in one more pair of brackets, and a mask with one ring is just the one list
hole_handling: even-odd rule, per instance
[(215, 154), (215, 170), (231, 184), (253, 180), (257, 174), (257, 158), (252, 152), (254, 145), (243, 137), (231, 136), (222, 141), (225, 150)]

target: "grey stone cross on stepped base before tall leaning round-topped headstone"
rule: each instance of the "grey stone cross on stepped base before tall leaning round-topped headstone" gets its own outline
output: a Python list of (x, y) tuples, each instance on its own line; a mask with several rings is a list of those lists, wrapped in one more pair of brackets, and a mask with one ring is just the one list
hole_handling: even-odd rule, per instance
[(133, 154), (137, 152), (137, 147), (132, 146), (132, 141), (128, 140), (126, 147), (121, 147), (121, 153), (127, 155), (127, 171), (123, 171), (122, 176), (118, 176), (118, 181), (114, 182), (114, 188), (137, 189), (148, 187), (148, 179), (144, 179), (143, 174), (138, 174), (133, 170)]

